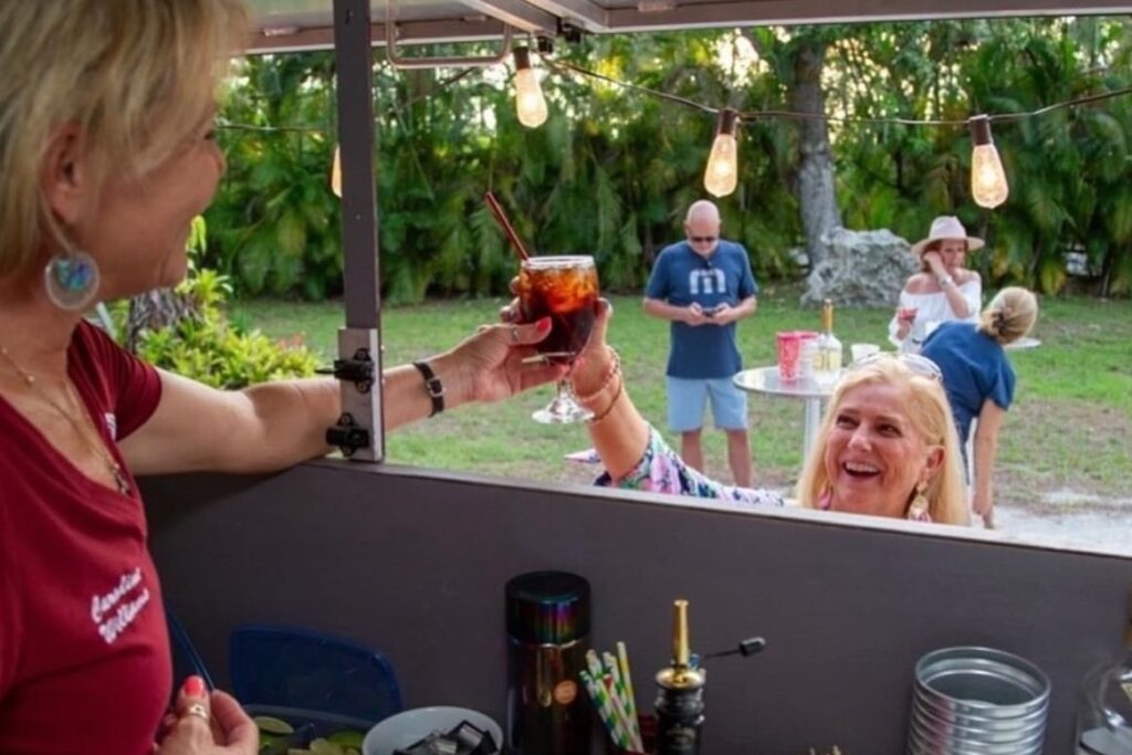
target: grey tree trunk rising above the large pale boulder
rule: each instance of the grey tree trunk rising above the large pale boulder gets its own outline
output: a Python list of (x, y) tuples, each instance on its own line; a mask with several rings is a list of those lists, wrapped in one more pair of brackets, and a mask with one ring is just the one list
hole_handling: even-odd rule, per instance
[[(789, 88), (790, 110), (801, 113), (825, 113), (825, 93), (822, 91), (822, 70), (825, 66), (826, 43), (818, 40), (799, 41), (794, 50), (794, 81)], [(830, 149), (829, 123), (823, 119), (800, 121), (801, 140), (798, 163), (798, 205), (801, 225), (806, 232), (806, 252), (809, 268), (825, 259), (822, 234), (841, 225), (833, 182), (833, 155)]]

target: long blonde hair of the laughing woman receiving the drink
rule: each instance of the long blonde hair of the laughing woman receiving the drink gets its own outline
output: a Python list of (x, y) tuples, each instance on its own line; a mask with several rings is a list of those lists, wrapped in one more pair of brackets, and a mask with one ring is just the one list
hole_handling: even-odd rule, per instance
[[(837, 421), (838, 411), (846, 395), (858, 386), (872, 384), (907, 389), (910, 396), (908, 420), (925, 443), (943, 447), (943, 464), (924, 491), (924, 496), (928, 499), (928, 514), (932, 521), (941, 524), (968, 524), (967, 489), (959, 457), (959, 436), (943, 384), (935, 378), (917, 375), (895, 357), (884, 357), (854, 367), (838, 383), (830, 398), (829, 411), (818, 429), (814, 448), (798, 480), (798, 503), (807, 508), (815, 508), (817, 501), (831, 492), (832, 484), (825, 470), (825, 445), (830, 438), (830, 430)], [(909, 500), (911, 497), (912, 491), (909, 490)]]

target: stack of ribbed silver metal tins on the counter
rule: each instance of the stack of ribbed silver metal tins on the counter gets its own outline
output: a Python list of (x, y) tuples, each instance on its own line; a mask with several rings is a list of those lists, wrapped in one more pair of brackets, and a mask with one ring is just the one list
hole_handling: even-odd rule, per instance
[(1041, 753), (1049, 679), (989, 647), (947, 647), (916, 664), (908, 755)]

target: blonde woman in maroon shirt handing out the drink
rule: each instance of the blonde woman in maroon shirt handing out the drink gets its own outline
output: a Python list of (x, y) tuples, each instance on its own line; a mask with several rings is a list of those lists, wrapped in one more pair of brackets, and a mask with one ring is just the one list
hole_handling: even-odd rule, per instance
[[(321, 456), (337, 383), (215, 391), (83, 320), (185, 275), (190, 223), (224, 173), (221, 63), (247, 28), (239, 0), (0, 2), (2, 753), (257, 752), (234, 700), (170, 678), (134, 475)], [(486, 327), (429, 360), (445, 406), (561, 377), (524, 362), (549, 329)], [(385, 372), (387, 428), (437, 411), (428, 371)]]

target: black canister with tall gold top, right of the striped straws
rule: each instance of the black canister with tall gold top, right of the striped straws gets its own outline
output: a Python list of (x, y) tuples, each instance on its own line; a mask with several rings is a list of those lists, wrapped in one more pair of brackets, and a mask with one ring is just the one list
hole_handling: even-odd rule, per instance
[(672, 664), (657, 674), (657, 755), (698, 755), (704, 723), (702, 668), (691, 666), (688, 601), (672, 604)]

